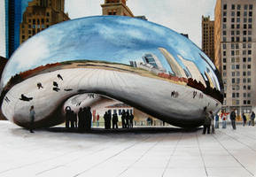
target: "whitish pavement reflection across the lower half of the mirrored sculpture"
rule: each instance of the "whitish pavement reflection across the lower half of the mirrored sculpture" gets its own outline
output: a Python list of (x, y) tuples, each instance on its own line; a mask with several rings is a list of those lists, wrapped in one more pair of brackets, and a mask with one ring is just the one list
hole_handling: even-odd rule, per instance
[[(57, 75), (61, 74), (63, 81)], [(40, 81), (43, 89), (37, 89)], [(53, 81), (58, 82), (58, 92), (52, 90)], [(65, 89), (71, 89), (65, 91)], [(203, 99), (192, 99), (195, 89), (184, 87), (168, 81), (156, 80), (131, 73), (121, 73), (102, 69), (65, 69), (51, 73), (39, 74), (15, 85), (6, 96), (10, 103), (4, 102), (2, 110), (8, 119), (12, 117), (20, 122), (28, 122), (29, 108), (35, 106), (35, 121), (44, 119), (54, 112), (58, 105), (68, 97), (83, 92), (103, 93), (116, 98), (131, 106), (143, 109), (144, 112), (153, 112), (154, 117), (166, 118), (172, 122), (186, 123), (186, 120), (202, 119), (203, 108), (218, 110), (216, 102), (210, 96)], [(178, 91), (177, 98), (171, 96), (172, 91)], [(198, 91), (200, 92), (200, 91)], [(30, 102), (19, 100), (21, 94), (33, 97)], [(192, 118), (192, 119), (191, 119)], [(179, 120), (177, 120), (179, 119)], [(182, 119), (182, 120), (181, 120)], [(197, 124), (197, 123), (196, 123)]]

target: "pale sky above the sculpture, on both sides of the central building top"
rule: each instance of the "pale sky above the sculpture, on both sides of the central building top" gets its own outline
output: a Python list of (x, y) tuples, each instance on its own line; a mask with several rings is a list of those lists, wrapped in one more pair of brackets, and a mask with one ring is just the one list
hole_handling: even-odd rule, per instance
[[(66, 0), (66, 12), (71, 19), (101, 15), (104, 0)], [(128, 0), (135, 15), (145, 15), (152, 22), (189, 34), (201, 48), (201, 17), (213, 19), (215, 0)]]

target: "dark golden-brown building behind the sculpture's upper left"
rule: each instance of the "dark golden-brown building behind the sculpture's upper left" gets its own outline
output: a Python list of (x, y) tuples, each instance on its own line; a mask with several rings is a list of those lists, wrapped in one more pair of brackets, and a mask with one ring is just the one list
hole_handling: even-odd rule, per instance
[(68, 20), (64, 4), (65, 0), (33, 0), (28, 3), (20, 24), (19, 42), (25, 42), (43, 29)]

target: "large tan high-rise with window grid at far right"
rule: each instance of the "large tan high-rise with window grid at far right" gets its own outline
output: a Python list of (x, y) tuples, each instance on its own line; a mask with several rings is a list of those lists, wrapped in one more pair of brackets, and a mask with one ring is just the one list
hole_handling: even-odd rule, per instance
[(217, 0), (214, 63), (224, 83), (223, 108), (256, 111), (256, 1)]

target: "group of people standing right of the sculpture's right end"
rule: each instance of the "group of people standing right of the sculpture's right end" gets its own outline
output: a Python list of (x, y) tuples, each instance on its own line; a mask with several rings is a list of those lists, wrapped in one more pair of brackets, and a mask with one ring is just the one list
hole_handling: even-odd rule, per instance
[[(214, 134), (214, 129), (219, 128), (220, 119), (221, 119), (221, 127), (227, 128), (228, 116), (229, 116), (232, 128), (234, 130), (237, 129), (237, 126), (236, 126), (237, 113), (235, 109), (232, 110), (231, 112), (225, 112), (224, 110), (221, 110), (221, 113), (219, 114), (217, 113), (213, 115), (213, 112), (206, 112), (206, 107), (205, 107), (203, 113), (205, 114), (203, 134), (206, 134), (206, 131), (207, 131), (207, 134), (210, 134), (210, 132)], [(247, 118), (244, 112), (242, 113), (242, 119), (243, 119), (243, 126), (245, 126), (247, 122)], [(254, 119), (255, 119), (255, 113), (252, 112), (250, 115), (248, 126), (251, 126), (251, 125), (254, 126)]]

